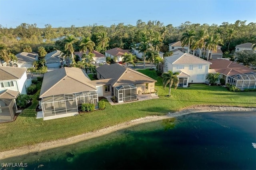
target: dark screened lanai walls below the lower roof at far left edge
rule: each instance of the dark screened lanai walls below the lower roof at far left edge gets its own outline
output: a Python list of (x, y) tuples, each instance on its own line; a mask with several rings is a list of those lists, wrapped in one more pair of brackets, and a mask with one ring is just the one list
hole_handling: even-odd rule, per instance
[(15, 113), (15, 99), (0, 99), (0, 122), (12, 121)]

